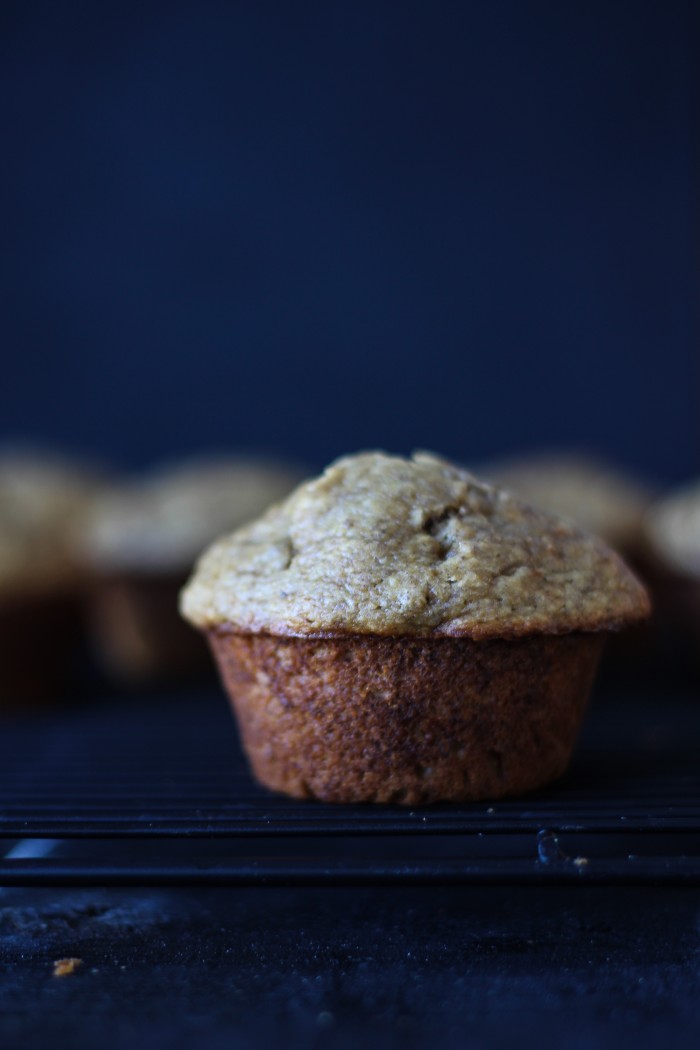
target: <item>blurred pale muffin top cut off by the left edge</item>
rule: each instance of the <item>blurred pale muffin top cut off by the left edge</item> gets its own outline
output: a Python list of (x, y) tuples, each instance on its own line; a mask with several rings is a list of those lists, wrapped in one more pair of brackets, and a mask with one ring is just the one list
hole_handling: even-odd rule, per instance
[(94, 472), (52, 454), (0, 453), (0, 591), (77, 579), (75, 534), (97, 486)]

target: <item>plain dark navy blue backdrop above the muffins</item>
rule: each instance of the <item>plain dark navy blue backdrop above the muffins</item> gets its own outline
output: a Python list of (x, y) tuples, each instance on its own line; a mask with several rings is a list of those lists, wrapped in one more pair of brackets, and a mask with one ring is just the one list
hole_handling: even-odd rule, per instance
[(700, 469), (690, 0), (0, 19), (0, 437)]

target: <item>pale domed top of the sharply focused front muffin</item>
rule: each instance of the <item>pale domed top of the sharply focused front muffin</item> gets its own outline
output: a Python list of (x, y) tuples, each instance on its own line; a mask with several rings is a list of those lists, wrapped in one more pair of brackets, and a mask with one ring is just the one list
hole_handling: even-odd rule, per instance
[(602, 541), (426, 454), (332, 464), (215, 543), (183, 592), (199, 627), (513, 637), (649, 612)]

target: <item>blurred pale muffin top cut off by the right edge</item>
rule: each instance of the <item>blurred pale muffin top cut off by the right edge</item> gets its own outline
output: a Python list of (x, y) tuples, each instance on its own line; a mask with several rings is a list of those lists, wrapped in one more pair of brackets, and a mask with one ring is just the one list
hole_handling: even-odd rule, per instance
[(700, 579), (700, 481), (655, 504), (644, 528), (658, 558), (676, 572)]

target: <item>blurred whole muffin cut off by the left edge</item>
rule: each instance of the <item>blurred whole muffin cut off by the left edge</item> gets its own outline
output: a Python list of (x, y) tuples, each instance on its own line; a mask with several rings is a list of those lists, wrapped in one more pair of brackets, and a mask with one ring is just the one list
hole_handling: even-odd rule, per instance
[(0, 707), (48, 699), (80, 640), (76, 536), (99, 488), (86, 466), (35, 449), (0, 452)]

